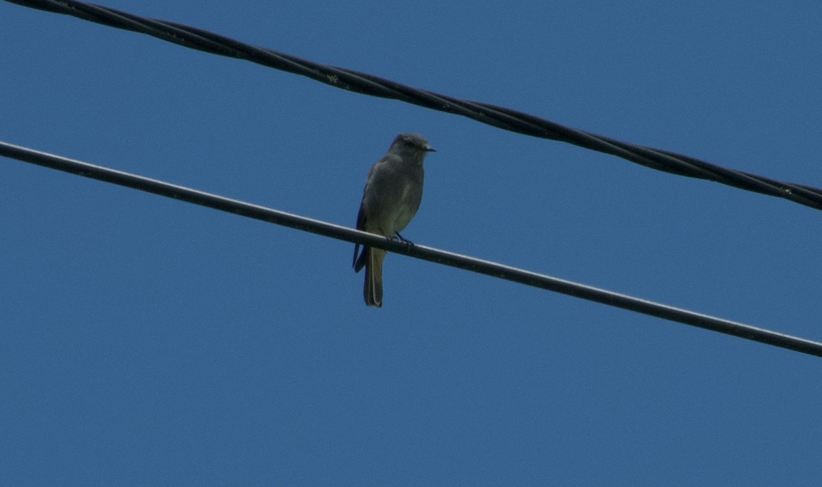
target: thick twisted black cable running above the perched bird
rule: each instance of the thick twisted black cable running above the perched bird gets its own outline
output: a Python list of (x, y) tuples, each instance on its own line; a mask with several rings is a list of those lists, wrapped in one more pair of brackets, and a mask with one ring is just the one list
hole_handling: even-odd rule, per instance
[(370, 94), (382, 98), (398, 99), (441, 112), (455, 113), (464, 117), (473, 118), (478, 122), (496, 126), (507, 131), (515, 131), (529, 136), (578, 145), (585, 149), (593, 149), (605, 154), (616, 155), (622, 159), (639, 163), (649, 168), (658, 169), (659, 171), (671, 172), (679, 176), (717, 181), (727, 186), (734, 186), (746, 191), (755, 191), (764, 195), (778, 196), (785, 200), (810, 206), (810, 208), (822, 209), (822, 190), (812, 186), (777, 181), (749, 172), (722, 168), (700, 159), (675, 154), (667, 150), (652, 149), (605, 136), (598, 136), (590, 132), (578, 131), (510, 108), (497, 107), (488, 103), (472, 102), (464, 99), (455, 99), (450, 96), (433, 93), (432, 91), (417, 90), (410, 86), (400, 85), (394, 81), (385, 80), (366, 73), (325, 66), (316, 62), (300, 59), (299, 57), (289, 56), (288, 54), (277, 53), (264, 48), (256, 48), (248, 44), (242, 44), (234, 39), (211, 33), (207, 30), (196, 29), (195, 27), (169, 21), (148, 19), (113, 8), (100, 7), (98, 5), (76, 2), (74, 0), (7, 1), (25, 7), (76, 16), (86, 21), (110, 25), (118, 29), (149, 34), (158, 39), (180, 44), (187, 48), (199, 49), (207, 53), (246, 59), (263, 66), (274, 67), (282, 71), (307, 76), (312, 80), (321, 81), (326, 85), (335, 86), (344, 90)]

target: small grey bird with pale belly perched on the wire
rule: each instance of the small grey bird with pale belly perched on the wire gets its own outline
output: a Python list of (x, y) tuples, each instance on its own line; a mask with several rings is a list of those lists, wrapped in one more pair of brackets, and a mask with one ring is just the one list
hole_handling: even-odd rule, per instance
[[(429, 152), (436, 149), (419, 134), (396, 136), (386, 155), (368, 171), (357, 215), (358, 230), (406, 241), (399, 232), (408, 226), (423, 200), (423, 160)], [(353, 268), (358, 273), (365, 267), (365, 304), (381, 308), (386, 250), (363, 246), (359, 252), (359, 247), (360, 244), (354, 246)]]

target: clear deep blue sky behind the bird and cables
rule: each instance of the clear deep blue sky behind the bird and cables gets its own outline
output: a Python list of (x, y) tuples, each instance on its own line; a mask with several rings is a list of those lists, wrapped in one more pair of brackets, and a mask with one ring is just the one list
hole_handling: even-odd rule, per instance
[[(822, 186), (822, 5), (104, 2)], [(0, 2), (0, 140), (804, 338), (820, 214)], [(4, 485), (811, 485), (820, 359), (2, 159)]]

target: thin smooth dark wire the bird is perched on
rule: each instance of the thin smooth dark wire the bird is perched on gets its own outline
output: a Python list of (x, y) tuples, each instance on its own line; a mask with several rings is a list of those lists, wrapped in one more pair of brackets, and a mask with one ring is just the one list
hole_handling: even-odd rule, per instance
[(27, 149), (18, 145), (0, 142), (0, 155), (18, 159), (27, 163), (37, 164), (46, 168), (71, 172), (83, 177), (90, 177), (99, 181), (106, 181), (120, 186), (127, 186), (140, 191), (147, 191), (155, 195), (166, 196), (174, 200), (200, 204), (213, 209), (219, 209), (230, 214), (238, 214), (247, 218), (255, 218), (264, 222), (276, 223), (286, 227), (297, 228), (304, 232), (312, 232), (338, 240), (357, 242), (367, 246), (374, 246), (398, 254), (409, 255), (416, 259), (429, 260), (437, 264), (450, 265), (459, 269), (466, 269), (475, 273), (483, 273), (494, 278), (502, 278), (515, 283), (522, 283), (532, 287), (540, 287), (548, 291), (561, 292), (569, 296), (579, 297), (588, 301), (596, 301), (608, 306), (616, 306), (625, 310), (636, 311), (644, 315), (657, 316), (683, 324), (690, 324), (699, 328), (709, 329), (719, 333), (726, 333), (735, 337), (746, 338), (755, 342), (767, 343), (774, 347), (787, 348), (814, 356), (822, 356), (822, 343), (812, 342), (804, 338), (792, 337), (764, 328), (755, 328), (727, 319), (701, 315), (694, 311), (683, 310), (653, 301), (626, 296), (617, 292), (610, 292), (598, 287), (573, 283), (560, 278), (552, 278), (539, 273), (516, 269), (488, 260), (479, 260), (467, 255), (454, 254), (432, 247), (412, 245), (386, 239), (367, 232), (360, 232), (353, 228), (326, 223), (312, 218), (305, 218), (295, 214), (266, 208), (256, 204), (231, 200), (224, 196), (212, 195), (202, 191), (192, 190), (184, 186), (169, 184), (164, 181), (137, 176), (128, 172), (95, 166), (74, 159), (67, 159), (53, 154)]

